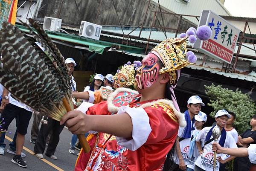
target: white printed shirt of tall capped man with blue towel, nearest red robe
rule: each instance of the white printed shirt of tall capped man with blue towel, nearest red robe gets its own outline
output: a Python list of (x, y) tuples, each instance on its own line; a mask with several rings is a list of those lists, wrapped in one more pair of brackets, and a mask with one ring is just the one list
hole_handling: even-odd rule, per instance
[[(192, 126), (192, 121), (191, 121), (191, 126)], [(178, 130), (178, 137), (179, 138), (183, 137), (183, 134), (185, 133), (185, 128), (186, 127), (179, 127), (179, 130)], [(191, 136), (192, 136), (192, 133), (191, 133)], [(191, 136), (190, 136), (190, 138), (186, 138), (186, 139), (183, 139), (182, 141), (180, 141), (180, 152), (181, 152), (181, 155), (182, 155), (183, 160), (185, 162), (185, 165), (189, 164), (188, 155), (189, 155), (189, 145), (190, 145), (190, 141), (191, 141)], [(174, 153), (174, 162), (177, 165), (180, 163), (180, 160), (177, 156), (176, 150), (175, 150), (175, 153)]]

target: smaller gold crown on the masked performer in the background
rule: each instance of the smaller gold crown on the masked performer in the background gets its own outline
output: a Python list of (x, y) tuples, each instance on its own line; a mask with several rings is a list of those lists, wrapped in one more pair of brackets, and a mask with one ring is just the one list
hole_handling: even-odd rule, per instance
[(134, 68), (133, 64), (122, 66), (121, 70), (118, 73), (116, 73), (114, 78), (116, 78), (117, 74), (119, 74), (119, 73), (122, 73), (125, 76), (125, 78), (127, 79), (127, 84), (126, 84), (127, 87), (134, 84), (134, 82), (135, 82), (135, 78), (134, 78), (135, 68)]

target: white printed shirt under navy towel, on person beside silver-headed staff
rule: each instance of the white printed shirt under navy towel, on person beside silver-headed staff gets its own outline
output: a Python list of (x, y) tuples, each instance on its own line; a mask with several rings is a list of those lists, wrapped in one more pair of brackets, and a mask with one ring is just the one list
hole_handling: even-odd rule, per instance
[[(205, 127), (202, 129), (198, 136), (196, 137), (196, 141), (202, 141), (203, 145), (207, 136), (207, 133), (212, 127)], [(212, 136), (210, 137), (212, 139)], [(219, 142), (221, 139), (221, 136), (218, 138), (217, 142)], [(212, 141), (214, 142), (214, 141)], [(214, 153), (212, 152), (212, 142), (209, 142), (207, 145), (204, 146), (204, 153), (201, 154), (195, 161), (195, 165), (197, 165), (199, 168), (204, 169), (205, 171), (212, 171), (213, 170), (213, 156)], [(224, 142), (224, 148), (237, 148), (236, 142), (233, 139), (233, 136), (227, 132), (226, 140)], [(217, 157), (221, 156), (221, 154), (217, 154)], [(216, 162), (216, 168), (215, 171), (219, 171), (219, 162)]]

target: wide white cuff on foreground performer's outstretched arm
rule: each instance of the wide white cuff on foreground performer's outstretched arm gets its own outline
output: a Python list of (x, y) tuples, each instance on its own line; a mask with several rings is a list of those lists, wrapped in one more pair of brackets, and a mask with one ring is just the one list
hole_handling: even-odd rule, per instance
[(135, 151), (147, 141), (151, 133), (148, 114), (141, 107), (131, 108), (127, 106), (120, 107), (117, 114), (119, 113), (127, 113), (131, 117), (132, 139), (116, 137), (117, 144)]

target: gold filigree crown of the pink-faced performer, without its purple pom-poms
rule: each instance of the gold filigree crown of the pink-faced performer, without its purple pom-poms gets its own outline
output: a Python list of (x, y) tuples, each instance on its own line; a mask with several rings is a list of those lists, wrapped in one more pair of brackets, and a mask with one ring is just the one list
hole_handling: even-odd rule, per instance
[(168, 72), (171, 85), (177, 82), (177, 70), (192, 64), (186, 59), (186, 45), (187, 37), (168, 38), (151, 50), (156, 51), (162, 58), (164, 67), (159, 70), (159, 73)]

